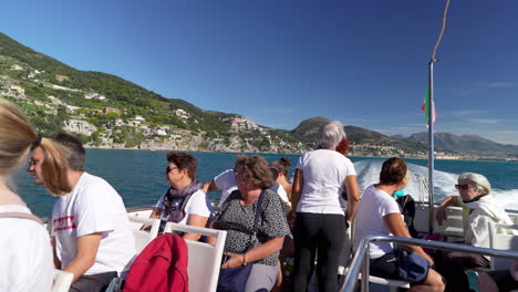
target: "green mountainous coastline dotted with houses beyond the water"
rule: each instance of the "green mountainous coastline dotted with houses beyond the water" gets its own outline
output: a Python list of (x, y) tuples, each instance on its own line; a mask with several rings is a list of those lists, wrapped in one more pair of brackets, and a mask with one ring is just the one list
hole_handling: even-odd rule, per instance
[[(90, 146), (108, 148), (301, 153), (318, 146), (319, 128), (330, 121), (309, 118), (293, 131), (257, 125), (239, 114), (166, 98), (115, 75), (73, 69), (3, 33), (0, 96), (17, 103), (43, 134), (65, 129)], [(390, 137), (353, 125), (344, 129), (353, 155), (423, 156), (427, 150), (424, 133)], [(518, 146), (479, 136), (435, 137), (442, 150), (518, 156)]]

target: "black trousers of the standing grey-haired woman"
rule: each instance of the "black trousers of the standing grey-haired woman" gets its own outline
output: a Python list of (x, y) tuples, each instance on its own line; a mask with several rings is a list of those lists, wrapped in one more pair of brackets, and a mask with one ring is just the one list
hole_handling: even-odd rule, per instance
[(314, 270), (320, 292), (338, 291), (338, 265), (345, 240), (345, 218), (334, 213), (298, 212), (293, 228), (296, 247), (293, 291), (307, 291)]

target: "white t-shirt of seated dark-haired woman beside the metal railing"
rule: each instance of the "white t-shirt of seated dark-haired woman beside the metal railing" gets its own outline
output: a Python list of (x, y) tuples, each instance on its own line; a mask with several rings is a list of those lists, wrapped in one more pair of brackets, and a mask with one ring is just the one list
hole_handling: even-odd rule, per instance
[[(370, 186), (363, 192), (354, 219), (353, 250), (358, 250), (360, 241), (367, 236), (391, 236), (383, 217), (390, 213), (401, 213), (400, 206), (385, 191)], [(392, 242), (371, 242), (371, 259), (376, 259), (393, 251)]]

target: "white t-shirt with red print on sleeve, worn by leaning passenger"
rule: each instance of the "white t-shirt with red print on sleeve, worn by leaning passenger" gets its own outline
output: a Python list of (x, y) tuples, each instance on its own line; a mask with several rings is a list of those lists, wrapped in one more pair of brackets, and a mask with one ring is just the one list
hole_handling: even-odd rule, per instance
[(83, 173), (72, 191), (54, 204), (52, 225), (62, 268), (75, 258), (79, 237), (103, 232), (95, 263), (84, 274), (130, 269), (133, 231), (121, 196), (106, 180)]

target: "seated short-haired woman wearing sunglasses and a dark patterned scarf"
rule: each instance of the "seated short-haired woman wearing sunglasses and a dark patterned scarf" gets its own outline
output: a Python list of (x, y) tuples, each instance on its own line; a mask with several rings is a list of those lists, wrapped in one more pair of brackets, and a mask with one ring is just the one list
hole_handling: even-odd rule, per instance
[[(149, 218), (164, 222), (205, 227), (210, 216), (210, 202), (195, 178), (196, 158), (186, 153), (167, 154), (165, 176), (170, 187), (162, 195)], [(199, 234), (186, 233), (184, 239), (198, 240)]]

